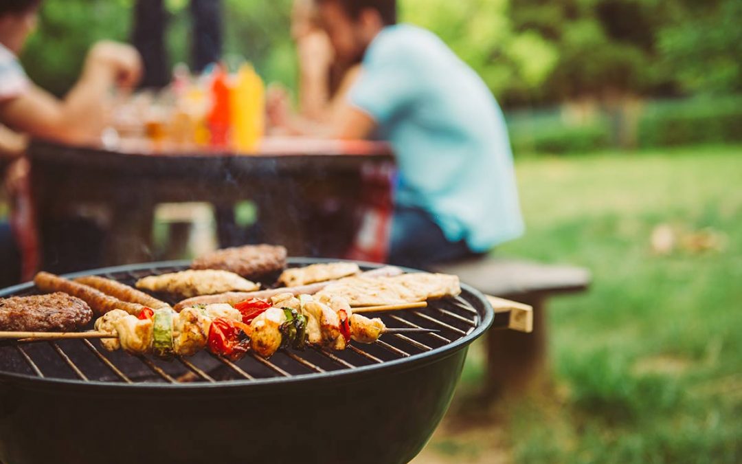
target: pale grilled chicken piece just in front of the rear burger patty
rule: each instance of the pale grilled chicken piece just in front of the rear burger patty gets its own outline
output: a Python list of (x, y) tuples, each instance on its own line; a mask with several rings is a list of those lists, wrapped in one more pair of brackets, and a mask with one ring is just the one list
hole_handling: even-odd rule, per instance
[(150, 275), (137, 281), (137, 288), (152, 292), (165, 292), (191, 298), (232, 290), (253, 292), (259, 285), (241, 278), (234, 272), (222, 270), (187, 270), (171, 274)]

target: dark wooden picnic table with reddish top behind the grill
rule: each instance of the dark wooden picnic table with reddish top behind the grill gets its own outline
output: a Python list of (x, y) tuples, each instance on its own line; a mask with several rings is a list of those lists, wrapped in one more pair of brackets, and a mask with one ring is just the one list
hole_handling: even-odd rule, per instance
[(80, 214), (94, 213), (104, 223), (101, 265), (151, 261), (158, 203), (208, 202), (229, 211), (252, 200), (266, 242), (283, 244), (295, 256), (339, 255), (358, 228), (362, 170), (393, 160), (386, 143), (289, 138), (267, 139), (252, 154), (34, 140), (28, 157), (45, 244), (42, 268), (59, 272), (76, 267), (60, 261), (74, 261), (65, 257), (85, 244), (69, 231), (61, 236), (53, 224)]

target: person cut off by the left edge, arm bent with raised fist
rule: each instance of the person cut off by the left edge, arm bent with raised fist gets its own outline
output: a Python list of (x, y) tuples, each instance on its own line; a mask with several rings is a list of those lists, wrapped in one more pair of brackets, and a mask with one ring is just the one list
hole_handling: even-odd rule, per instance
[[(30, 82), (17, 59), (27, 36), (36, 27), (40, 4), (41, 0), (0, 3), (0, 125), (19, 134), (70, 143), (96, 140), (105, 128), (105, 102), (111, 87), (132, 88), (138, 82), (141, 73), (139, 54), (128, 45), (99, 42), (88, 53), (82, 76), (67, 96), (61, 100), (53, 97)], [(19, 157), (18, 151), (10, 152)], [(33, 224), (30, 223), (33, 215), (28, 211), (28, 169), (23, 164), (24, 160), (17, 160), (16, 165), (8, 169), (12, 181), (7, 187), (13, 190), (9, 193), (15, 206), (15, 241), (21, 243), (13, 244), (9, 226), (0, 223), (0, 262), (5, 267), (0, 275), (2, 287), (17, 281), (15, 276), (20, 267), (18, 247), (24, 250), (36, 248), (36, 238), (31, 232)], [(32, 269), (33, 266), (25, 268)]]

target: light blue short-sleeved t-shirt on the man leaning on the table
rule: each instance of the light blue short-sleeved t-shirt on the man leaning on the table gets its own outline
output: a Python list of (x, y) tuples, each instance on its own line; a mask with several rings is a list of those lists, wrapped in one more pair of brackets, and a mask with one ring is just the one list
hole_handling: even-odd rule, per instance
[(435, 34), (398, 24), (369, 46), (349, 99), (392, 144), (395, 202), (429, 212), (475, 252), (523, 232), (502, 111), (482, 79)]

